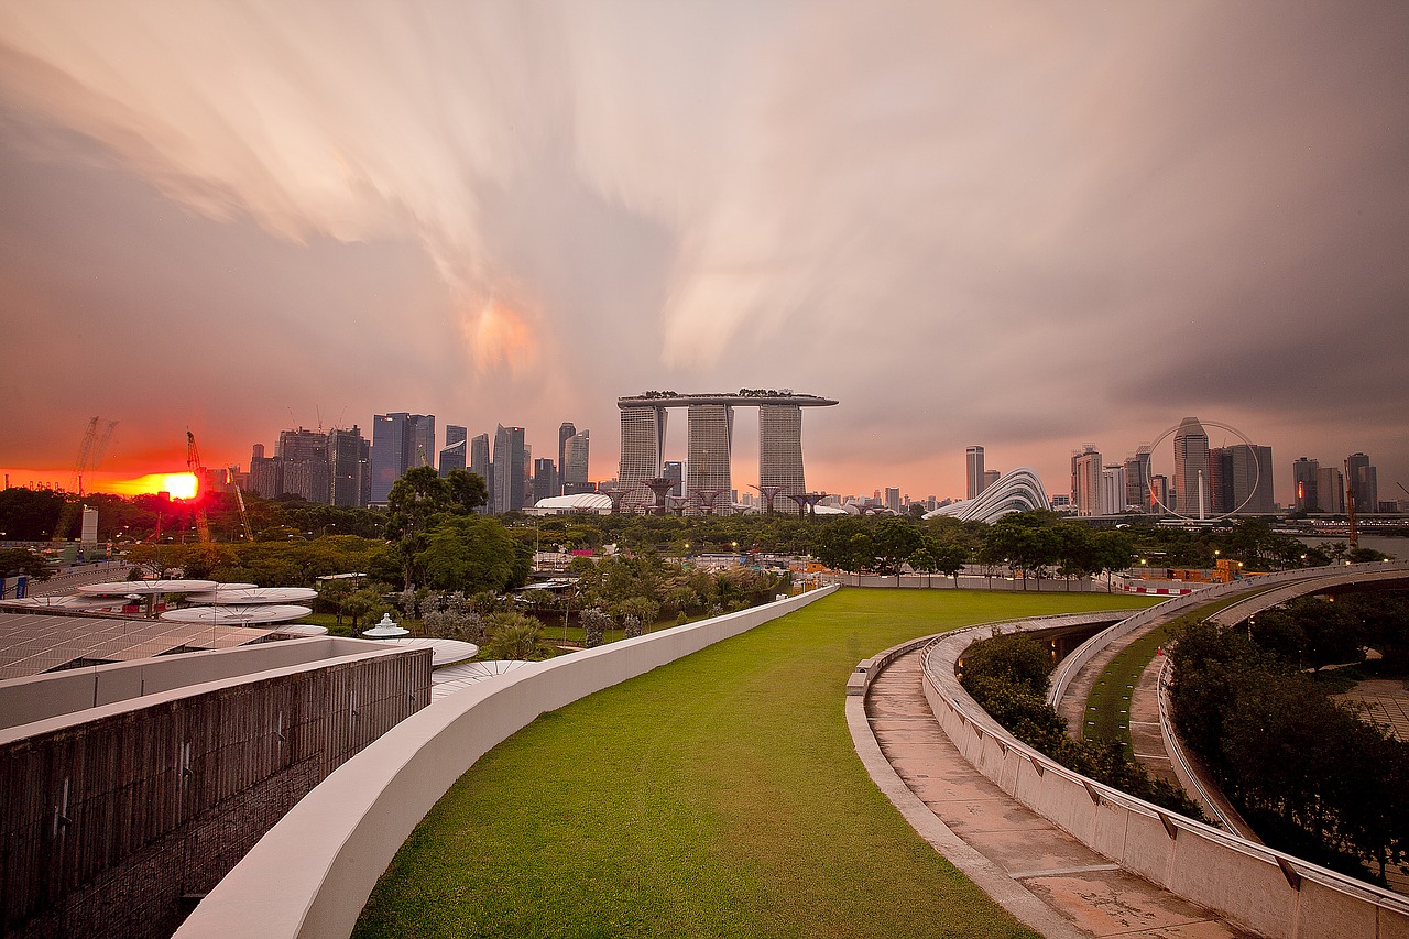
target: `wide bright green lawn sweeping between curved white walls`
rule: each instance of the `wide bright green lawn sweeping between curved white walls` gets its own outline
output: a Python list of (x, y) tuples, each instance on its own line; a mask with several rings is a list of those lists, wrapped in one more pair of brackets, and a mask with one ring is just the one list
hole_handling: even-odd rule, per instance
[(857, 661), (1103, 594), (844, 589), (541, 716), (416, 828), (356, 936), (1030, 936), (905, 823), (847, 732)]

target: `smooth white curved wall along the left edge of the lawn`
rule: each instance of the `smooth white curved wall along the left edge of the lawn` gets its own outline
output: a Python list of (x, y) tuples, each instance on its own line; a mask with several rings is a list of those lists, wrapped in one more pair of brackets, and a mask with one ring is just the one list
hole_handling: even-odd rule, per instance
[(304, 797), (196, 907), (176, 936), (347, 936), (416, 823), (497, 743), (545, 711), (737, 636), (834, 589), (535, 663), (437, 701)]

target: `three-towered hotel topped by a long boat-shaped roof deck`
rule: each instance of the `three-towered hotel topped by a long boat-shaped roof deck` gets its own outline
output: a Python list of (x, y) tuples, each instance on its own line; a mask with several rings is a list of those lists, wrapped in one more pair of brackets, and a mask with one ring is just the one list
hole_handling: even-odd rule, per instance
[[(728, 512), (730, 453), (734, 434), (734, 409), (758, 409), (758, 489), (781, 512), (799, 512), (800, 505), (786, 496), (807, 492), (802, 468), (802, 409), (824, 407), (837, 402), (792, 391), (744, 388), (735, 395), (678, 395), (645, 392), (619, 398), (621, 409), (621, 468), (617, 481), (626, 493), (626, 509), (652, 503), (652, 489), (664, 498), (662, 470), (665, 419), (671, 407), (685, 407), (686, 472), (685, 512)], [(723, 498), (720, 498), (723, 496)]]

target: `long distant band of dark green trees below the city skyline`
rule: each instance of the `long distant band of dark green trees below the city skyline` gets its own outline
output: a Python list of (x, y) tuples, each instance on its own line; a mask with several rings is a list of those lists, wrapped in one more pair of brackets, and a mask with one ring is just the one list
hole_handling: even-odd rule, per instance
[[(418, 467), (397, 481), (403, 502), (390, 510), (316, 505), (296, 496), (261, 499), (245, 496), (249, 527), (256, 541), (317, 539), (355, 534), (366, 539), (402, 539), (406, 512), (430, 515), (468, 513), (469, 502), (483, 493), (473, 474), (454, 485), (455, 492), (431, 484), (434, 470)], [(473, 481), (479, 481), (478, 485)], [(0, 491), (0, 532), (15, 540), (46, 540), (63, 522), (68, 537), (77, 536), (76, 496), (30, 489)], [(187, 503), (158, 496), (93, 495), (85, 502), (99, 509), (100, 540), (196, 540), (196, 519)], [(204, 502), (217, 543), (244, 540), (244, 527), (232, 495), (210, 493)], [(479, 501), (475, 508), (483, 505)], [(69, 506), (69, 512), (65, 512)], [(665, 556), (717, 553), (810, 554), (828, 567), (893, 575), (914, 571), (944, 575), (965, 564), (1014, 577), (1079, 578), (1112, 572), (1146, 560), (1150, 567), (1209, 568), (1217, 558), (1239, 560), (1247, 571), (1312, 567), (1332, 560), (1378, 560), (1377, 551), (1312, 548), (1272, 532), (1262, 519), (1243, 519), (1223, 530), (1185, 532), (1161, 529), (1150, 519), (1131, 516), (1130, 527), (1096, 532), (1079, 520), (1053, 512), (1023, 512), (996, 524), (958, 522), (950, 517), (921, 520), (914, 516), (816, 516), (724, 515), (645, 516), (571, 515), (535, 517), (524, 513), (495, 516), (510, 532), (530, 530), (544, 547), (595, 550), (607, 544), (631, 551), (654, 550)], [(418, 523), (414, 522), (413, 523)], [(155, 533), (158, 532), (159, 536)], [(413, 571), (414, 574), (414, 571)]]

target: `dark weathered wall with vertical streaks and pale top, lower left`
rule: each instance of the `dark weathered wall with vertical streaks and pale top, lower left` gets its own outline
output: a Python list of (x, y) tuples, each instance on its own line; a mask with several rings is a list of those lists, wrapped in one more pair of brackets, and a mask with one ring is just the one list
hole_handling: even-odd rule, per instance
[(4, 730), (0, 932), (169, 936), (183, 895), (430, 702), (430, 650), (358, 646)]

